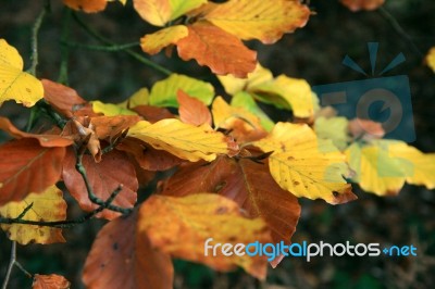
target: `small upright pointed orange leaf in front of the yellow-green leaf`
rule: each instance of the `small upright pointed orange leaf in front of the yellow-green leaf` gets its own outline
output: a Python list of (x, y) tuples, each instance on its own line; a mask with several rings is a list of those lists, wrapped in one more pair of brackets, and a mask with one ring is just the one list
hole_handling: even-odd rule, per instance
[(183, 90), (177, 91), (179, 103), (178, 113), (183, 123), (191, 125), (209, 124), (211, 126), (211, 114), (202, 101), (190, 97)]

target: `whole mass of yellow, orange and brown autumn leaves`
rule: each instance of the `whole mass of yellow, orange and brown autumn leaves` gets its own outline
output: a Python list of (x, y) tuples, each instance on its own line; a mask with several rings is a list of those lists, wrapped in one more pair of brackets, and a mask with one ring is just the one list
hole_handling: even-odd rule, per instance
[[(370, 10), (383, 1), (343, 2)], [(64, 3), (85, 12), (107, 5)], [(88, 102), (23, 72), (18, 52), (0, 40), (0, 102), (14, 100), (50, 120), (30, 133), (0, 117), (13, 137), (0, 146), (1, 228), (22, 244), (53, 243), (65, 241), (62, 228), (110, 221), (86, 260), (87, 287), (171, 288), (172, 257), (219, 271), (240, 266), (263, 279), (265, 256), (206, 256), (204, 240), (289, 242), (298, 198), (346, 203), (357, 199), (351, 181), (380, 196), (398, 193), (406, 181), (435, 187), (435, 154), (382, 139), (380, 124), (320, 109), (306, 80), (274, 77), (241, 42), (273, 43), (303, 26), (310, 11), (299, 1), (134, 0), (134, 7), (150, 24), (166, 26), (141, 39), (145, 52), (176, 46), (182, 59), (220, 74), (231, 102), (215, 97), (211, 84), (178, 74), (122, 103)], [(291, 111), (291, 122), (274, 123), (259, 102)], [(137, 203), (139, 187), (163, 171), (172, 174)], [(60, 181), (87, 212), (83, 218), (66, 219)], [(34, 288), (42, 284), (69, 287), (60, 276), (36, 275)]]

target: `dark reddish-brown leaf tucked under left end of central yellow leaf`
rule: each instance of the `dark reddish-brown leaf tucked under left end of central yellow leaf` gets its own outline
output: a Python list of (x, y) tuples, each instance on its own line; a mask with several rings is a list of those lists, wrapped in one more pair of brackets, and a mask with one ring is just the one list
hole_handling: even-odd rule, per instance
[(124, 139), (116, 149), (130, 153), (140, 167), (147, 171), (166, 171), (183, 162), (182, 159), (166, 151), (157, 150), (136, 138)]

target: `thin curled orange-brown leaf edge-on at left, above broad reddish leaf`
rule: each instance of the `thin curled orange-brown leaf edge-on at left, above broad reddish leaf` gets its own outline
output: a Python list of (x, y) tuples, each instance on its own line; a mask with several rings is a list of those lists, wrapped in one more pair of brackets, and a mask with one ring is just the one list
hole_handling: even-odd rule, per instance
[(59, 135), (49, 135), (49, 134), (28, 134), (17, 129), (7, 117), (0, 116), (0, 129), (7, 131), (14, 138), (35, 138), (39, 141), (41, 147), (69, 147), (74, 143), (73, 138), (64, 137)]

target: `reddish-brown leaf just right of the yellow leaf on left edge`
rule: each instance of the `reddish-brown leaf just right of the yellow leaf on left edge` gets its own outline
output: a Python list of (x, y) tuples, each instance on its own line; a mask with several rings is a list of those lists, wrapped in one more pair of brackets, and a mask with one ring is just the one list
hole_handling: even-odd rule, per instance
[[(105, 1), (104, 1), (105, 2)], [(60, 114), (73, 117), (74, 112), (86, 104), (86, 100), (77, 95), (74, 89), (49, 79), (41, 80), (44, 98)]]

